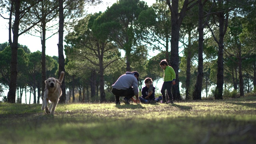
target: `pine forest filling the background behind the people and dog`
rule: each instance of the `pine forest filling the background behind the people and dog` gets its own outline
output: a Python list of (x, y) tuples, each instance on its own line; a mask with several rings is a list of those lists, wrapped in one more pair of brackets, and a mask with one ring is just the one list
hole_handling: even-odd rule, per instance
[[(9, 40), (10, 46), (7, 43), (1, 45), (0, 54), (9, 57), (12, 55), (12, 58), (8, 58), (10, 60), (8, 66), (6, 64), (4, 67), (5, 63), (0, 63), (6, 69), (0, 75), (1, 87), (9, 86), (9, 92), (12, 91), (11, 96), (14, 91), (12, 76), (15, 74), (17, 78), (14, 96), (18, 90), (20, 93), (18, 97), (21, 98), (22, 88), (26, 87), (24, 85), (34, 88), (34, 93), (37, 88), (40, 96), (43, 94), (46, 77), (49, 74), (58, 77), (57, 73), (64, 70), (66, 80), (62, 90), (69, 89), (72, 92), (69, 97), (72, 97), (73, 102), (75, 102), (75, 93), (79, 95), (79, 102), (112, 101), (114, 96), (111, 93), (111, 85), (126, 71), (136, 70), (140, 73), (140, 89), (146, 77), (151, 77), (154, 82), (161, 80), (163, 72), (159, 62), (162, 59), (168, 60), (176, 72), (176, 85), (173, 86), (174, 100), (182, 98), (200, 100), (202, 92), (206, 93), (206, 97), (222, 99), (226, 90), (234, 90), (240, 96), (244, 96), (244, 93), (250, 93), (255, 89), (256, 26), (253, 17), (256, 12), (256, 2), (254, 0), (156, 0), (150, 7), (140, 0), (118, 0), (105, 12), (87, 15), (83, 15), (84, 4), (92, 3), (90, 1), (78, 1), (79, 5), (72, 0), (64, 0), (63, 4), (51, 0), (38, 0), (29, 5), (21, 1), (20, 6), (27, 8), (24, 11), (22, 8), (12, 9), (17, 3), (4, 2), (9, 4), (7, 10), (10, 14), (14, 14), (17, 10), (25, 12), (29, 9), (22, 18), (19, 18), (20, 30), (24, 31), (17, 33), (18, 36), (25, 32), (34, 35), (42, 32), (40, 33), (41, 55), (37, 52), (41, 58), (34, 56), (38, 59), (33, 60), (39, 62), (38, 67), (41, 72), (38, 74), (41, 74), (39, 76), (41, 79), (29, 77), (36, 79), (33, 83), (28, 84), (26, 82), (28, 80), (22, 80), (26, 78), (22, 74), (29, 74), (23, 69), (26, 64), (29, 66), (31, 59), (31, 53), (26, 52), (26, 46), (18, 46), (18, 41), (15, 41), (17, 44), (14, 46), (12, 44), (14, 42), (10, 41), (12, 38)], [(60, 12), (60, 6), (63, 6), (63, 12)], [(58, 14), (64, 14), (64, 17), (60, 18)], [(11, 18), (12, 16), (8, 19), (15, 26), (15, 20)], [(56, 25), (50, 26), (47, 23), (56, 18), (64, 19), (64, 22), (61, 26), (63, 28), (57, 23), (59, 27), (56, 27), (55, 29), (58, 30), (54, 32)], [(60, 36), (59, 56), (52, 58), (57, 60), (57, 63), (48, 62), (51, 59), (45, 56), (46, 29), (54, 34), (61, 34), (64, 27), (68, 31), (64, 38), (66, 58), (64, 60), (61, 53), (63, 40)], [(9, 33), (9, 37), (10, 35)], [(18, 38), (13, 38), (14, 40)], [(16, 50), (17, 56), (13, 56), (13, 51)], [(124, 52), (124, 57), (121, 52)], [(152, 57), (150, 52), (158, 54)], [(20, 55), (22, 53), (24, 54)], [(23, 60), (16, 60), (15, 67), (13, 57)], [(4, 61), (4, 58), (0, 57), (0, 61)], [(51, 63), (56, 64), (57, 68)], [(48, 70), (52, 73), (47, 73)], [(41, 84), (37, 82), (38, 80)], [(64, 97), (65, 102), (66, 96)]]

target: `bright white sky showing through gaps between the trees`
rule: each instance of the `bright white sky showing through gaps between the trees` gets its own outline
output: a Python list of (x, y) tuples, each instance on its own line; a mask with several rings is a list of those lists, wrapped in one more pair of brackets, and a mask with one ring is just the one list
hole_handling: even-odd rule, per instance
[[(95, 13), (95, 12), (104, 12), (107, 7), (112, 6), (116, 2), (116, 0), (102, 0), (103, 3), (99, 4), (97, 6), (90, 6), (87, 9), (87, 13)], [(152, 6), (153, 3), (156, 2), (156, 0), (143, 0), (148, 4), (148, 6)], [(2, 14), (4, 17), (8, 18), (8, 14)], [(0, 17), (0, 43), (8, 42), (8, 20)], [(39, 37), (31, 36), (30, 34), (22, 34), (19, 36), (18, 43), (22, 45), (28, 46), (31, 52), (40, 51), (42, 52), (42, 45)], [(58, 56), (58, 34), (55, 34), (48, 40), (46, 40), (46, 55), (48, 56)], [(64, 43), (65, 44), (65, 43)], [(151, 53), (152, 56), (156, 55), (156, 52)], [(7, 95), (8, 90), (4, 92), (5, 95)], [(17, 96), (16, 96), (17, 97)], [(22, 97), (22, 103), (25, 103), (25, 96)], [(27, 97), (29, 97), (29, 94), (27, 94)], [(0, 100), (2, 98), (0, 97)], [(41, 99), (40, 99), (41, 100)], [(33, 96), (31, 96), (31, 103), (33, 103), (34, 99)], [(28, 102), (28, 98), (27, 98)], [(42, 103), (42, 100), (40, 101)]]

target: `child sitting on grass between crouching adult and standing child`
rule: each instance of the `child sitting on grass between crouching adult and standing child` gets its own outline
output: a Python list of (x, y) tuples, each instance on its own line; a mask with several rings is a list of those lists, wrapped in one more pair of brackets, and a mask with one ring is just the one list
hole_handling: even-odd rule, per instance
[(155, 98), (155, 87), (152, 85), (152, 79), (151, 78), (146, 78), (145, 79), (145, 87), (142, 88), (142, 96), (139, 97), (140, 102), (142, 103), (156, 103), (162, 100), (162, 96), (159, 96)]

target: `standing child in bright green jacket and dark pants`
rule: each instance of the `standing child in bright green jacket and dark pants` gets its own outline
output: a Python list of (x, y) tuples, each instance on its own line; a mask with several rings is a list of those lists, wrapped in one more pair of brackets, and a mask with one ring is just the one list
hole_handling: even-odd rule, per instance
[[(163, 100), (161, 103), (173, 103), (172, 97), (172, 85), (175, 83), (176, 74), (174, 69), (171, 66), (168, 66), (168, 62), (164, 59), (160, 62), (161, 68), (164, 70), (164, 84), (161, 89), (161, 94), (163, 96)], [(166, 102), (165, 90), (167, 91), (167, 95), (169, 97), (169, 101)]]

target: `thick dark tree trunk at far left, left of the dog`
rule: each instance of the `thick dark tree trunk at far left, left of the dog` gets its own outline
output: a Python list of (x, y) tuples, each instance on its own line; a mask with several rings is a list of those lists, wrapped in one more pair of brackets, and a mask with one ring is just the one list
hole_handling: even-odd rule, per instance
[[(15, 6), (15, 20), (12, 27), (12, 8)], [(15, 103), (16, 99), (16, 85), (17, 85), (17, 56), (18, 56), (18, 38), (19, 38), (19, 25), (20, 25), (20, 0), (12, 1), (9, 19), (9, 43), (12, 48), (12, 60), (11, 60), (11, 80), (9, 86), (9, 92), (7, 95), (7, 102)], [(13, 31), (12, 31), (13, 28)], [(12, 33), (13, 32), (13, 41)]]

